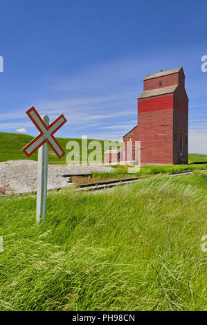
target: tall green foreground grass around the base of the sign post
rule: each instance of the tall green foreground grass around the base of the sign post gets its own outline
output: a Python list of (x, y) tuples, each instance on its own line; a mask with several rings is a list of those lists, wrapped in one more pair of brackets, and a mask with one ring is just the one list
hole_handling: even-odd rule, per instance
[(206, 310), (206, 178), (1, 197), (0, 310)]

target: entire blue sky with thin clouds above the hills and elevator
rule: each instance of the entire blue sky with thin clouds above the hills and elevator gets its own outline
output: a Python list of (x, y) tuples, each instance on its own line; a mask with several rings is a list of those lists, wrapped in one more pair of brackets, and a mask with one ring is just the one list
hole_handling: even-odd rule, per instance
[(0, 131), (37, 135), (35, 106), (65, 138), (121, 140), (149, 73), (183, 66), (189, 151), (207, 154), (206, 1), (2, 0)]

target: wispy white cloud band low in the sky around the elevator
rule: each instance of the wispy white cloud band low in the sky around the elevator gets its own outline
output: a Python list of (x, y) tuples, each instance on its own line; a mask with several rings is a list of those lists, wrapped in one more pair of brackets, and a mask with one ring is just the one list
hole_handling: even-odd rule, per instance
[[(179, 59), (176, 51), (169, 53), (163, 51), (162, 56), (153, 57), (153, 60), (150, 54), (148, 57), (140, 54), (93, 64), (60, 80), (48, 80), (47, 87), (50, 85), (52, 90), (51, 100), (45, 97), (41, 101), (35, 100), (33, 105), (39, 115), (48, 114), (51, 122), (64, 113), (68, 122), (58, 131), (63, 138), (80, 138), (82, 133), (88, 133), (89, 138), (122, 140), (123, 135), (136, 125), (136, 98), (143, 90), (143, 77), (147, 73), (156, 73), (161, 66), (167, 70), (185, 64), (183, 68), (188, 73), (186, 89), (190, 100), (189, 151), (206, 153), (207, 97), (206, 82), (201, 77), (207, 74), (202, 73), (200, 77), (200, 69), (195, 74), (193, 65), (191, 68), (195, 51), (190, 48), (186, 48)], [(192, 54), (186, 56), (186, 53)], [(20, 124), (22, 129), (26, 128), (35, 135), (37, 129), (25, 111), (22, 107), (17, 112), (0, 113), (0, 130), (17, 129)]]

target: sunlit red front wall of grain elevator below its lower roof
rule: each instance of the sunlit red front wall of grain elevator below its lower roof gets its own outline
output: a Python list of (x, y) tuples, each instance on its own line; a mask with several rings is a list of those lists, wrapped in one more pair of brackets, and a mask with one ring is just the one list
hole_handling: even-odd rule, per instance
[(172, 164), (173, 94), (138, 100), (141, 164)]

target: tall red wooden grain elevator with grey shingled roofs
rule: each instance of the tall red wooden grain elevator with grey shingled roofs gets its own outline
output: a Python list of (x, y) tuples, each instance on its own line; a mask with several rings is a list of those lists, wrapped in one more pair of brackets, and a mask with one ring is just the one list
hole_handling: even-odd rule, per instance
[(138, 96), (138, 122), (123, 137), (141, 141), (141, 165), (188, 164), (188, 95), (183, 68), (147, 75)]

